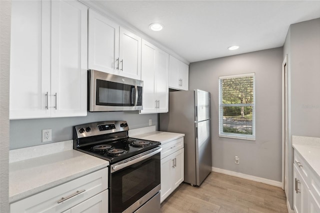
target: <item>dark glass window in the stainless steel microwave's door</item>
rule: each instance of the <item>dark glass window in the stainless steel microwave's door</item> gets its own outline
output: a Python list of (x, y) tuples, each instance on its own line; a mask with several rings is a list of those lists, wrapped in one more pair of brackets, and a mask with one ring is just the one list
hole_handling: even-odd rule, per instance
[(96, 79), (96, 105), (133, 106), (133, 85)]

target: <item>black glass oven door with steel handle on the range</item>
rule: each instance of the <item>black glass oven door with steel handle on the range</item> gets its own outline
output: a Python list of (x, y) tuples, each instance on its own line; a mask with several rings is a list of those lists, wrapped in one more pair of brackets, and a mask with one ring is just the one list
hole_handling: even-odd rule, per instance
[(156, 195), (160, 190), (161, 149), (156, 147), (110, 166), (109, 212), (133, 212)]

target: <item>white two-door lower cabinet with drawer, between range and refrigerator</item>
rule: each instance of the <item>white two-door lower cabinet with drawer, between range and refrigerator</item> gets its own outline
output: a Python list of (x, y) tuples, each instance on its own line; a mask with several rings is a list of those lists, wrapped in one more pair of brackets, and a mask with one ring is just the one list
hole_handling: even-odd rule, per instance
[(183, 137), (162, 145), (160, 202), (184, 180)]

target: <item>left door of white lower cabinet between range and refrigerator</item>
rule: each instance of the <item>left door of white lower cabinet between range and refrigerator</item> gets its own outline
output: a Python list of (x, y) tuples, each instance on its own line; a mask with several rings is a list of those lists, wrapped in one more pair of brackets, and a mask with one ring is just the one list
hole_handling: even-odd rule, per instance
[(162, 202), (172, 191), (172, 167), (173, 154), (161, 159), (161, 190), (160, 202)]

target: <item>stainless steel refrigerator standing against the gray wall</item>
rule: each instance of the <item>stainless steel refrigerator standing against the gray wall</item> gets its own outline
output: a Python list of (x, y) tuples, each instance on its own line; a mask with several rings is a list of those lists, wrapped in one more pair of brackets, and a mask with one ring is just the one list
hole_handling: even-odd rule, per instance
[(210, 92), (169, 92), (169, 112), (159, 115), (161, 131), (184, 133), (184, 182), (200, 185), (212, 170)]

